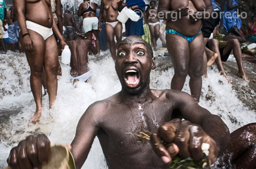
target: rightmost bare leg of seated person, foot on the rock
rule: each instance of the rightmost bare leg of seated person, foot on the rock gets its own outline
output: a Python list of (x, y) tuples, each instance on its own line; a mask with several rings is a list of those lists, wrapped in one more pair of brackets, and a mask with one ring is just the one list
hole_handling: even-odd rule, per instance
[(238, 73), (237, 75), (239, 77), (242, 77), (245, 81), (250, 82), (248, 77), (245, 74), (244, 67), (243, 67), (243, 61), (242, 61), (242, 50), (240, 47), (240, 42), (238, 39), (230, 39), (228, 40), (229, 44), (224, 48), (223, 54), (226, 54), (230, 48), (233, 49), (234, 58), (236, 58), (237, 64), (238, 64)]

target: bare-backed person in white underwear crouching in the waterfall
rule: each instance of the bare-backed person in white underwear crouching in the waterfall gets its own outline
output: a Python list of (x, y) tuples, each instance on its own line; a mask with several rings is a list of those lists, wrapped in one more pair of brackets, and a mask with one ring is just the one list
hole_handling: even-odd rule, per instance
[(92, 44), (89, 39), (84, 39), (84, 37), (76, 36), (75, 40), (67, 42), (71, 50), (71, 79), (87, 81), (90, 77), (90, 71), (88, 70), (88, 52), (89, 50), (93, 54), (97, 53), (97, 49)]

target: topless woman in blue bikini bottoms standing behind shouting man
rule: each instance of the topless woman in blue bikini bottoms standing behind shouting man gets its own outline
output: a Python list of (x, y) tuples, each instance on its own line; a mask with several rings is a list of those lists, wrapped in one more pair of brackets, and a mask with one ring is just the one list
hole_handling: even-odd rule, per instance
[(212, 12), (210, 0), (160, 0), (158, 4), (158, 16), (166, 20), (166, 44), (174, 63), (170, 88), (181, 91), (189, 75), (190, 92), (197, 101), (202, 89), (202, 19), (204, 13)]

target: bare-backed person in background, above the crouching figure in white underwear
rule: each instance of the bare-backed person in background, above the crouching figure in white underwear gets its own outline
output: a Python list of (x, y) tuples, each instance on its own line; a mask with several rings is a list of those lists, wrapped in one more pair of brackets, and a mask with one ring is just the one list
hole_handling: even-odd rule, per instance
[(66, 42), (73, 40), (75, 32), (77, 32), (76, 23), (75, 23), (73, 15), (71, 15), (68, 10), (66, 11), (66, 13), (63, 16), (63, 25), (66, 28), (66, 31), (63, 34)]

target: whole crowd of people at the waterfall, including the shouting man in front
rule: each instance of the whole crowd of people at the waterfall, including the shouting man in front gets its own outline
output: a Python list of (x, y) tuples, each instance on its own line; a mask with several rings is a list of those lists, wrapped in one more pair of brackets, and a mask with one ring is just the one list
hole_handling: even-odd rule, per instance
[[(226, 0), (225, 12), (235, 13), (241, 7), (238, 0)], [(118, 15), (128, 9), (139, 19), (129, 18), (124, 24)], [(216, 17), (207, 18), (205, 13), (215, 13)], [(68, 45), (71, 50), (71, 80), (87, 82), (88, 54), (100, 53), (109, 45), (122, 89), (90, 105), (78, 122), (71, 144), (76, 168), (87, 159), (95, 136), (109, 168), (168, 168), (177, 154), (200, 160), (204, 157), (203, 143), (210, 145), (208, 159), (215, 163), (214, 168), (256, 167), (256, 124), (229, 133), (219, 116), (198, 104), (207, 66), (216, 62), (231, 82), (222, 66), (231, 52), (238, 64), (237, 75), (250, 81), (243, 68), (240, 43), (246, 38), (240, 31), (241, 19), (222, 19), (227, 33), (220, 41), (212, 38), (220, 36), (221, 8), (215, 0), (160, 0), (148, 5), (143, 0), (101, 0), (100, 6), (83, 0), (77, 16), (82, 17), (79, 24), (68, 9), (62, 17), (60, 0), (13, 0), (8, 11), (0, 0), (2, 48), (4, 52), (24, 51), (30, 66), (36, 102), (33, 124), (39, 123), (42, 112), (42, 85), (49, 95), (50, 109), (56, 100), (57, 75), (61, 74), (58, 46), (63, 49)], [(252, 15), (248, 23), (251, 42), (255, 42), (255, 18)], [(150, 89), (159, 38), (174, 64), (172, 90)], [(191, 95), (181, 92), (187, 75)], [(148, 118), (153, 116), (156, 122)], [(151, 143), (141, 144), (137, 137), (126, 134), (140, 131), (153, 132)], [(7, 162), (13, 169), (40, 168), (48, 161), (49, 152), (46, 135), (28, 136), (11, 150)]]

